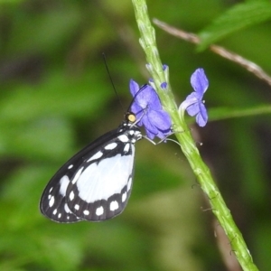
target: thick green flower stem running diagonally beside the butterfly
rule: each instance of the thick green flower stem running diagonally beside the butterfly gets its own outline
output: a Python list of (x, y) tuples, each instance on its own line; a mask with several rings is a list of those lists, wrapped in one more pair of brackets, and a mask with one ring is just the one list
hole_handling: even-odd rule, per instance
[[(178, 112), (168, 76), (164, 72), (162, 62), (160, 61), (155, 41), (154, 27), (148, 17), (145, 0), (132, 0), (132, 3), (135, 9), (135, 19), (141, 35), (139, 42), (145, 51), (146, 61), (149, 64), (147, 68), (154, 79), (154, 87), (161, 98), (165, 110), (168, 111), (172, 117), (174, 130), (176, 132), (185, 131), (184, 133), (175, 134), (181, 144), (182, 152), (186, 156), (193, 173), (201, 184), (201, 189), (208, 196), (211, 210), (220, 221), (221, 227), (225, 230), (230, 240), (232, 251), (235, 253), (240, 266), (246, 271), (257, 271), (257, 266), (253, 263), (247, 245), (232, 219), (230, 210), (227, 208), (217, 185), (213, 181), (209, 168), (201, 159), (190, 129), (186, 125), (183, 116)], [(166, 90), (161, 89), (163, 82), (168, 83)]]

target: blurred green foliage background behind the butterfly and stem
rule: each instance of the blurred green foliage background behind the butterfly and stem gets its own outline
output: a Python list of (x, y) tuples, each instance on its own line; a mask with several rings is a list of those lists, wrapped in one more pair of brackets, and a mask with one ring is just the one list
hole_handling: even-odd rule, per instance
[[(151, 18), (199, 33), (243, 2), (149, 0), (148, 8)], [(270, 29), (258, 23), (220, 44), (271, 73)], [(211, 121), (212, 108), (268, 105), (270, 86), (210, 51), (156, 34), (178, 104), (194, 70), (210, 80), (210, 122), (192, 133), (255, 263), (270, 270), (271, 117)], [(171, 142), (136, 144), (133, 192), (116, 219), (64, 225), (42, 217), (42, 190), (61, 164), (122, 121), (129, 79), (148, 79), (131, 1), (0, 0), (0, 270), (239, 270), (229, 267), (230, 240)]]

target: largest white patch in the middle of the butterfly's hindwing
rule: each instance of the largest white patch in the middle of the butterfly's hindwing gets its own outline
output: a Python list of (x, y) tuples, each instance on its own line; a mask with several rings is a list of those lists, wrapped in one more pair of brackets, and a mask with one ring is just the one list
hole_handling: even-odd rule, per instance
[[(131, 189), (129, 177), (133, 172), (135, 146), (130, 144), (130, 148), (129, 155), (117, 154), (85, 168), (76, 182), (82, 201), (107, 201), (113, 194), (120, 193), (126, 185), (128, 190)], [(130, 184), (127, 184), (128, 180)]]

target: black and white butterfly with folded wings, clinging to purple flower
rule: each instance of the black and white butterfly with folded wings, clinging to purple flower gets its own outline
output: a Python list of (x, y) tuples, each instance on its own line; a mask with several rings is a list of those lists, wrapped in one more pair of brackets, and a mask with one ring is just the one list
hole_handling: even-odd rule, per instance
[(117, 129), (98, 137), (55, 173), (42, 194), (42, 214), (63, 223), (120, 214), (131, 193), (135, 142), (141, 138), (135, 115), (126, 113)]

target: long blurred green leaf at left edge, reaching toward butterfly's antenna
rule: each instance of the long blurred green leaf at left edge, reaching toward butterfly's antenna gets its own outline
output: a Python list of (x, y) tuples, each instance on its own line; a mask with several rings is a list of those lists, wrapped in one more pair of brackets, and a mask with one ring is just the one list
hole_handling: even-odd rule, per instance
[(89, 74), (77, 80), (57, 72), (38, 87), (22, 84), (0, 101), (1, 121), (17, 123), (38, 117), (81, 117), (95, 113), (109, 98), (102, 83), (91, 88), (97, 77)]

